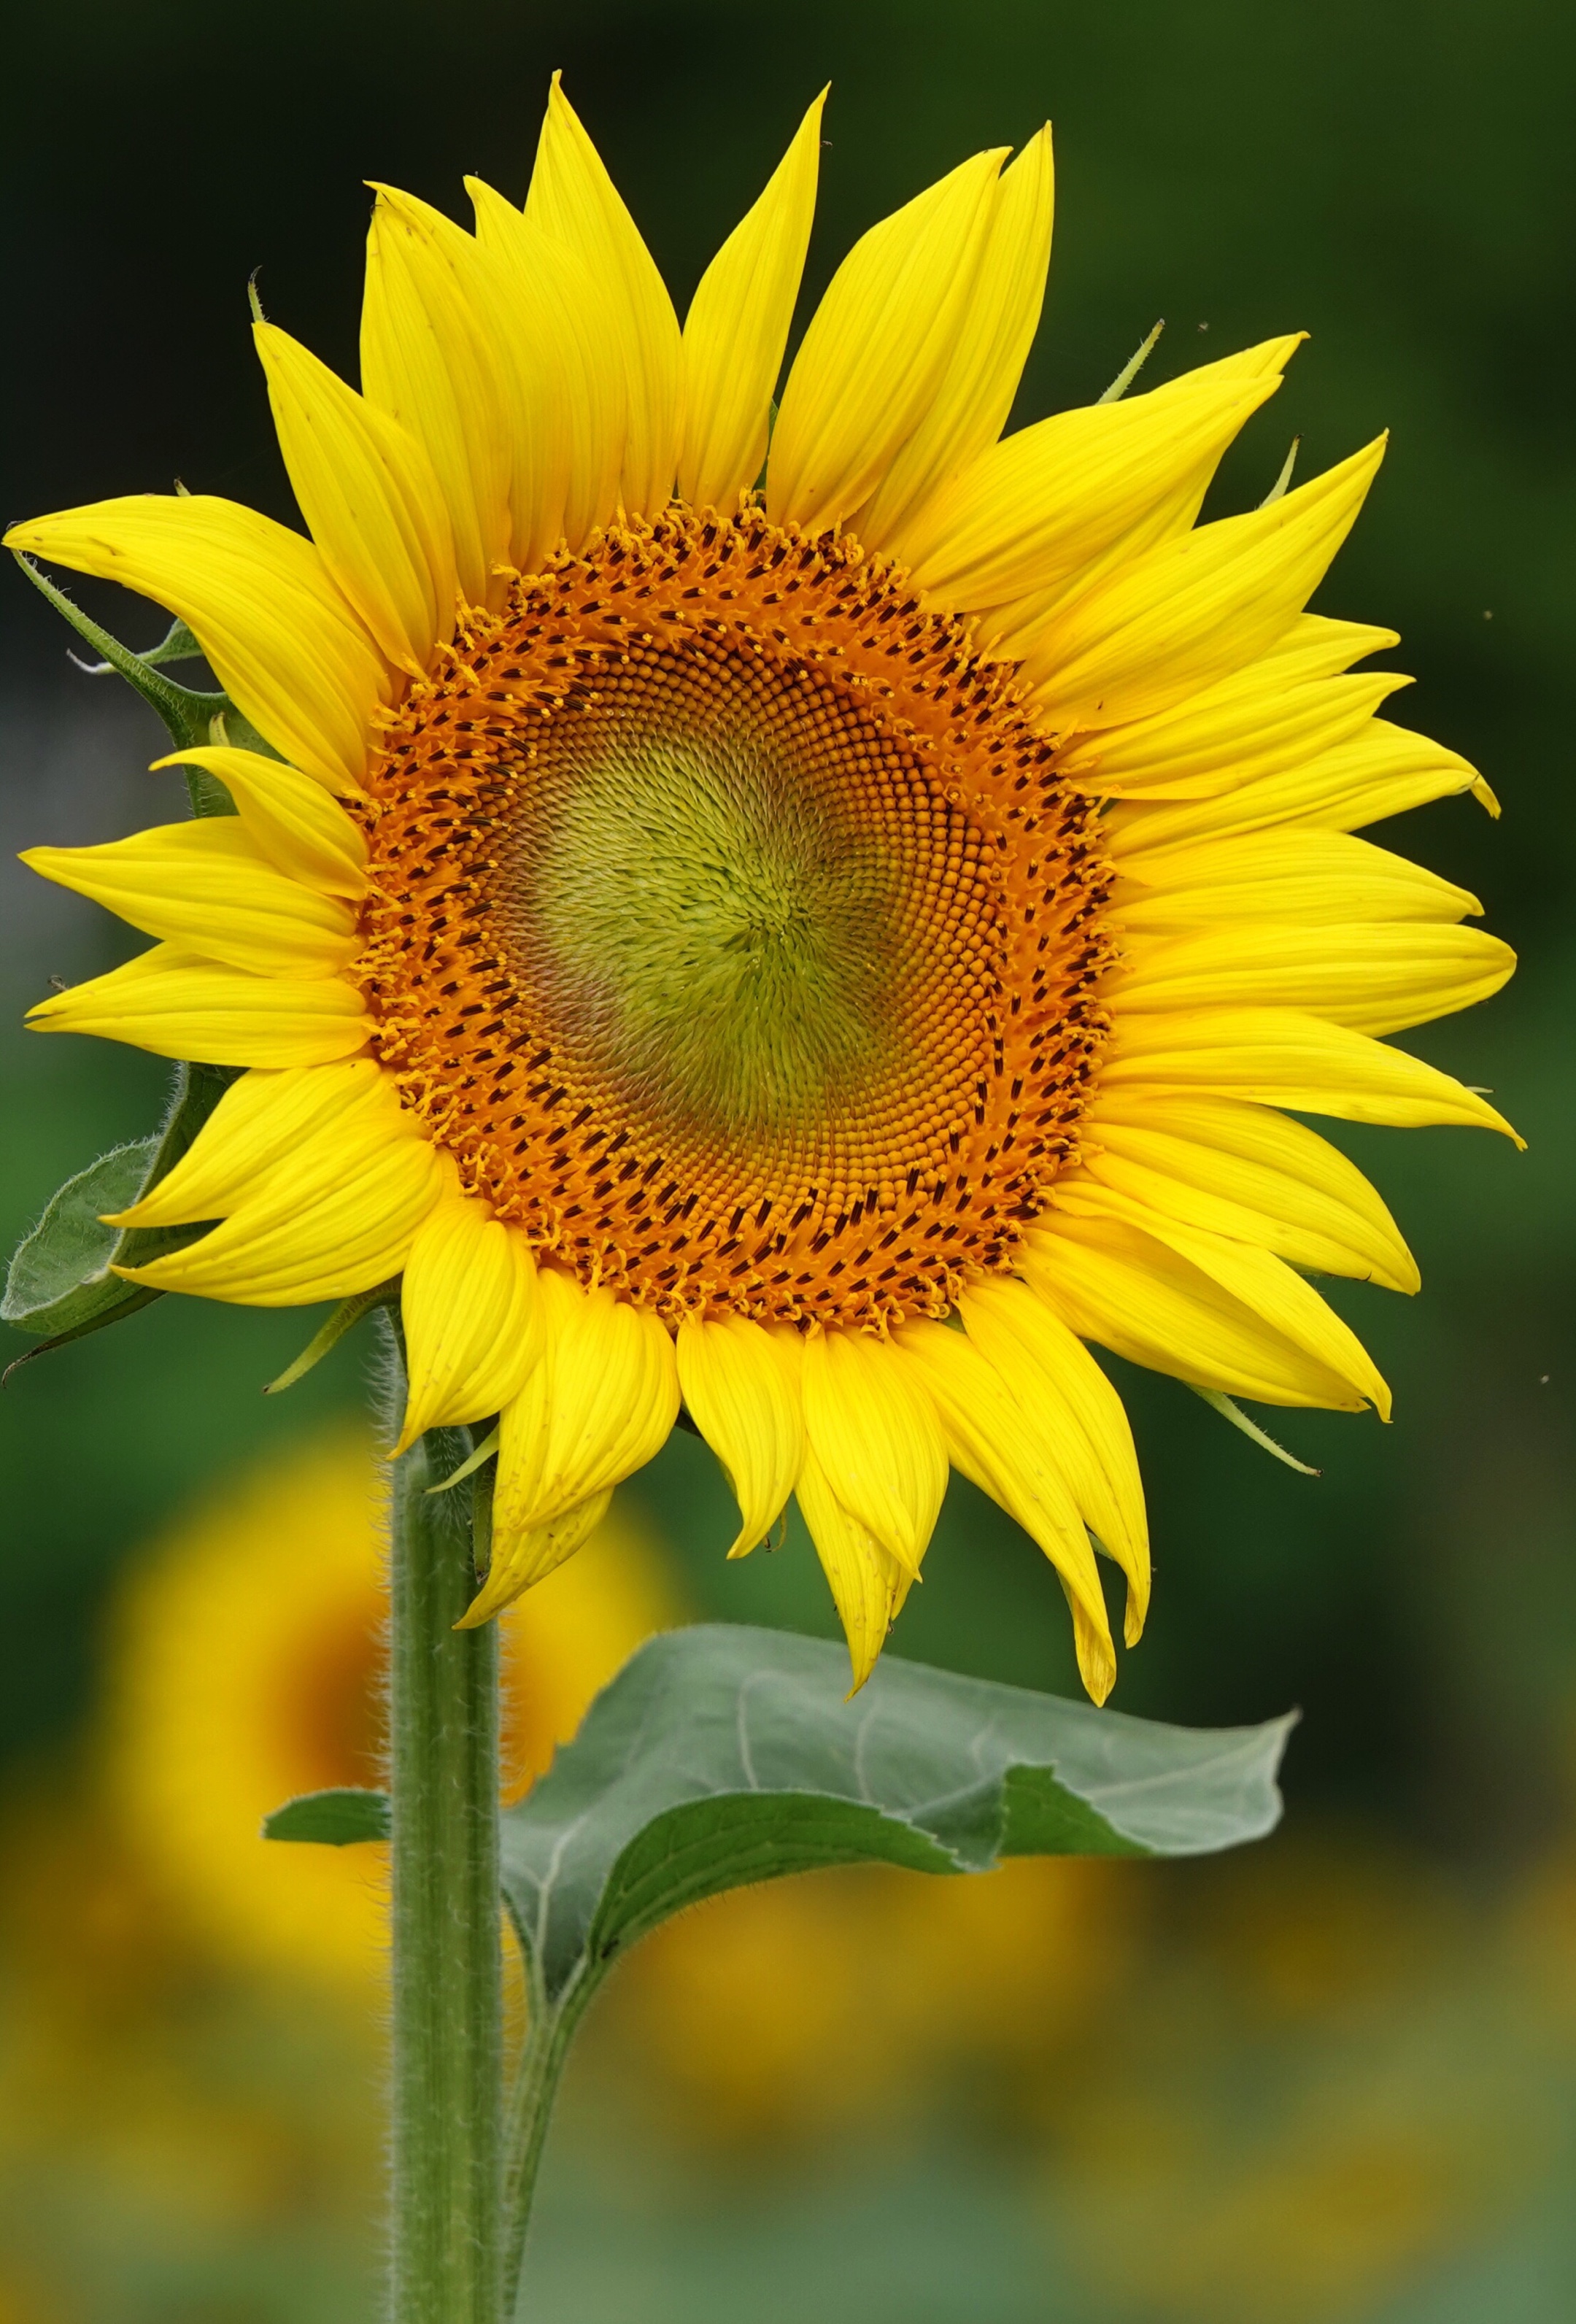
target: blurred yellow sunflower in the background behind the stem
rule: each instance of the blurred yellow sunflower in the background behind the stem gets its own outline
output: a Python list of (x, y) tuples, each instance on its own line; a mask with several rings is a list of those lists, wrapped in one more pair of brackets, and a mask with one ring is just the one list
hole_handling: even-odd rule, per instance
[[(379, 1464), (344, 1432), (235, 1480), (121, 1592), (105, 1783), (186, 1917), (246, 1966), (367, 1982), (388, 1952), (386, 1850), (286, 1848), (263, 1817), (381, 1780)], [(523, 1792), (635, 1648), (679, 1620), (662, 1559), (609, 1513), (507, 1624), (504, 1787)]]

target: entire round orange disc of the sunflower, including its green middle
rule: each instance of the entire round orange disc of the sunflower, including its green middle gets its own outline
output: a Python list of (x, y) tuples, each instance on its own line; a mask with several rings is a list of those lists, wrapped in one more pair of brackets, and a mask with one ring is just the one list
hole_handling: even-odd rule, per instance
[(358, 976), (465, 1185), (669, 1320), (1002, 1269), (1104, 1041), (1090, 804), (853, 539), (674, 511), (470, 614), (367, 781)]

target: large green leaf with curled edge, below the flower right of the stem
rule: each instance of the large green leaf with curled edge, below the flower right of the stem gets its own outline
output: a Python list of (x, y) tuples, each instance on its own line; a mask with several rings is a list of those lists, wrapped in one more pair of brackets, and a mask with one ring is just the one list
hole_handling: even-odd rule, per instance
[(1281, 1813), (1290, 1720), (1160, 1727), (839, 1645), (709, 1624), (644, 1645), (504, 1813), (504, 1896), (558, 2006), (704, 1896), (828, 1864), (988, 1871), (1013, 1855), (1181, 1857)]

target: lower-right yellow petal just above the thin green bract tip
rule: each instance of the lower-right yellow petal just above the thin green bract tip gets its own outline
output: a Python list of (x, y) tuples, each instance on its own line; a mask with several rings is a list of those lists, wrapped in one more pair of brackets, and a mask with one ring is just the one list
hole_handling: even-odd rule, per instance
[[(1355, 1341), (1353, 1362), (1364, 1364), (1362, 1387), (1304, 1346), (1304, 1336), (1316, 1334), (1297, 1292), (1316, 1306), (1323, 1301), (1302, 1276), (1265, 1250), (1241, 1248), (1239, 1260), (1237, 1281), (1227, 1285), (1172, 1241), (1158, 1241), (1127, 1220), (1055, 1213), (1051, 1232), (1030, 1229), (1025, 1236), (1023, 1274), (1081, 1339), (1095, 1339), (1132, 1364), (1167, 1371), (1195, 1387), (1260, 1404), (1309, 1404), (1346, 1413), (1362, 1411), (1371, 1394), (1383, 1394), (1383, 1380), (1371, 1373)], [(1274, 1269), (1297, 1287), (1285, 1294), (1285, 1313), (1295, 1306), (1292, 1320), (1306, 1327), (1295, 1339), (1262, 1313), (1265, 1306), (1276, 1306)], [(1230, 1262), (1223, 1262), (1223, 1271), (1232, 1271)], [(1239, 1297), (1241, 1285), (1255, 1292), (1253, 1304)], [(1330, 1315), (1330, 1322), (1339, 1327), (1339, 1318)]]

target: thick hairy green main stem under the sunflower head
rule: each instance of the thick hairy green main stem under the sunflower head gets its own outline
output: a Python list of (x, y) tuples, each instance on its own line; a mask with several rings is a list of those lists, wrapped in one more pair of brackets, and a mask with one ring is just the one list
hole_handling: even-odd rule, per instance
[(497, 1624), (474, 1597), (470, 1455), (432, 1429), (395, 1469), (391, 1557), (393, 2324), (502, 2317)]

